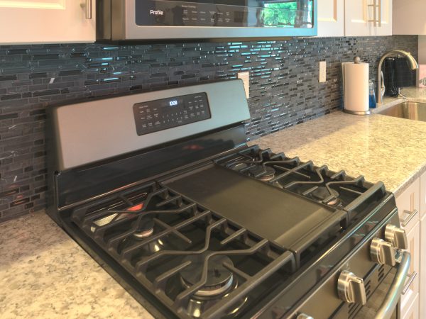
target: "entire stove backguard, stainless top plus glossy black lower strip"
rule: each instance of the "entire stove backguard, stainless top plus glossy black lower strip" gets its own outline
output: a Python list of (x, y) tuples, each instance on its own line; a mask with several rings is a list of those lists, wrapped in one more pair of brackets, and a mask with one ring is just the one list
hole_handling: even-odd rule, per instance
[(49, 206), (56, 211), (244, 147), (249, 117), (241, 80), (48, 108)]

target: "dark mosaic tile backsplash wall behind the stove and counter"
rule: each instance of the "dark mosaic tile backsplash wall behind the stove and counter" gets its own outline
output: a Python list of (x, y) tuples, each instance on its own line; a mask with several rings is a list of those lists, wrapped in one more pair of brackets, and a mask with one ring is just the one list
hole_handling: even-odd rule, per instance
[[(255, 139), (342, 106), (340, 63), (371, 62), (417, 37), (294, 38), (249, 43), (0, 46), (0, 221), (45, 207), (45, 108), (57, 101), (146, 91), (251, 74)], [(318, 83), (318, 62), (327, 82)], [(229, 106), (231, 107), (231, 106)], [(343, 167), (344, 168), (344, 167)]]

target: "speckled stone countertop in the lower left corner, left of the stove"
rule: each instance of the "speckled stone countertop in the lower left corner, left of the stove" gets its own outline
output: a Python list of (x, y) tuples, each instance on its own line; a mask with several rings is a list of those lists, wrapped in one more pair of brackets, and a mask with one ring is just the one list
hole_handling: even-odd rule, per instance
[(153, 318), (43, 211), (0, 225), (0, 318)]

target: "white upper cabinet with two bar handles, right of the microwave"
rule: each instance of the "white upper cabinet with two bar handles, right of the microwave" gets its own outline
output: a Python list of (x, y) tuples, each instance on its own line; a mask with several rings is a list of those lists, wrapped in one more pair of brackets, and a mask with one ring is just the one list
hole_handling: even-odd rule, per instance
[(392, 0), (345, 0), (345, 35), (392, 35)]

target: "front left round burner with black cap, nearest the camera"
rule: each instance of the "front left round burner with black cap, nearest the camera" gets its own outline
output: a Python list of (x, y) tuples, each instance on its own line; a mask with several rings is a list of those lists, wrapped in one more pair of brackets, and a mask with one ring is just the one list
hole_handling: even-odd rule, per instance
[[(180, 272), (180, 279), (185, 288), (195, 285), (200, 281), (202, 267), (208, 253), (187, 256), (183, 260), (184, 262), (188, 260), (192, 262)], [(233, 264), (231, 259), (226, 256), (214, 256), (209, 259), (206, 284), (195, 293), (195, 296), (213, 297), (228, 291), (232, 286), (234, 276), (229, 269), (224, 267), (224, 263)]]

